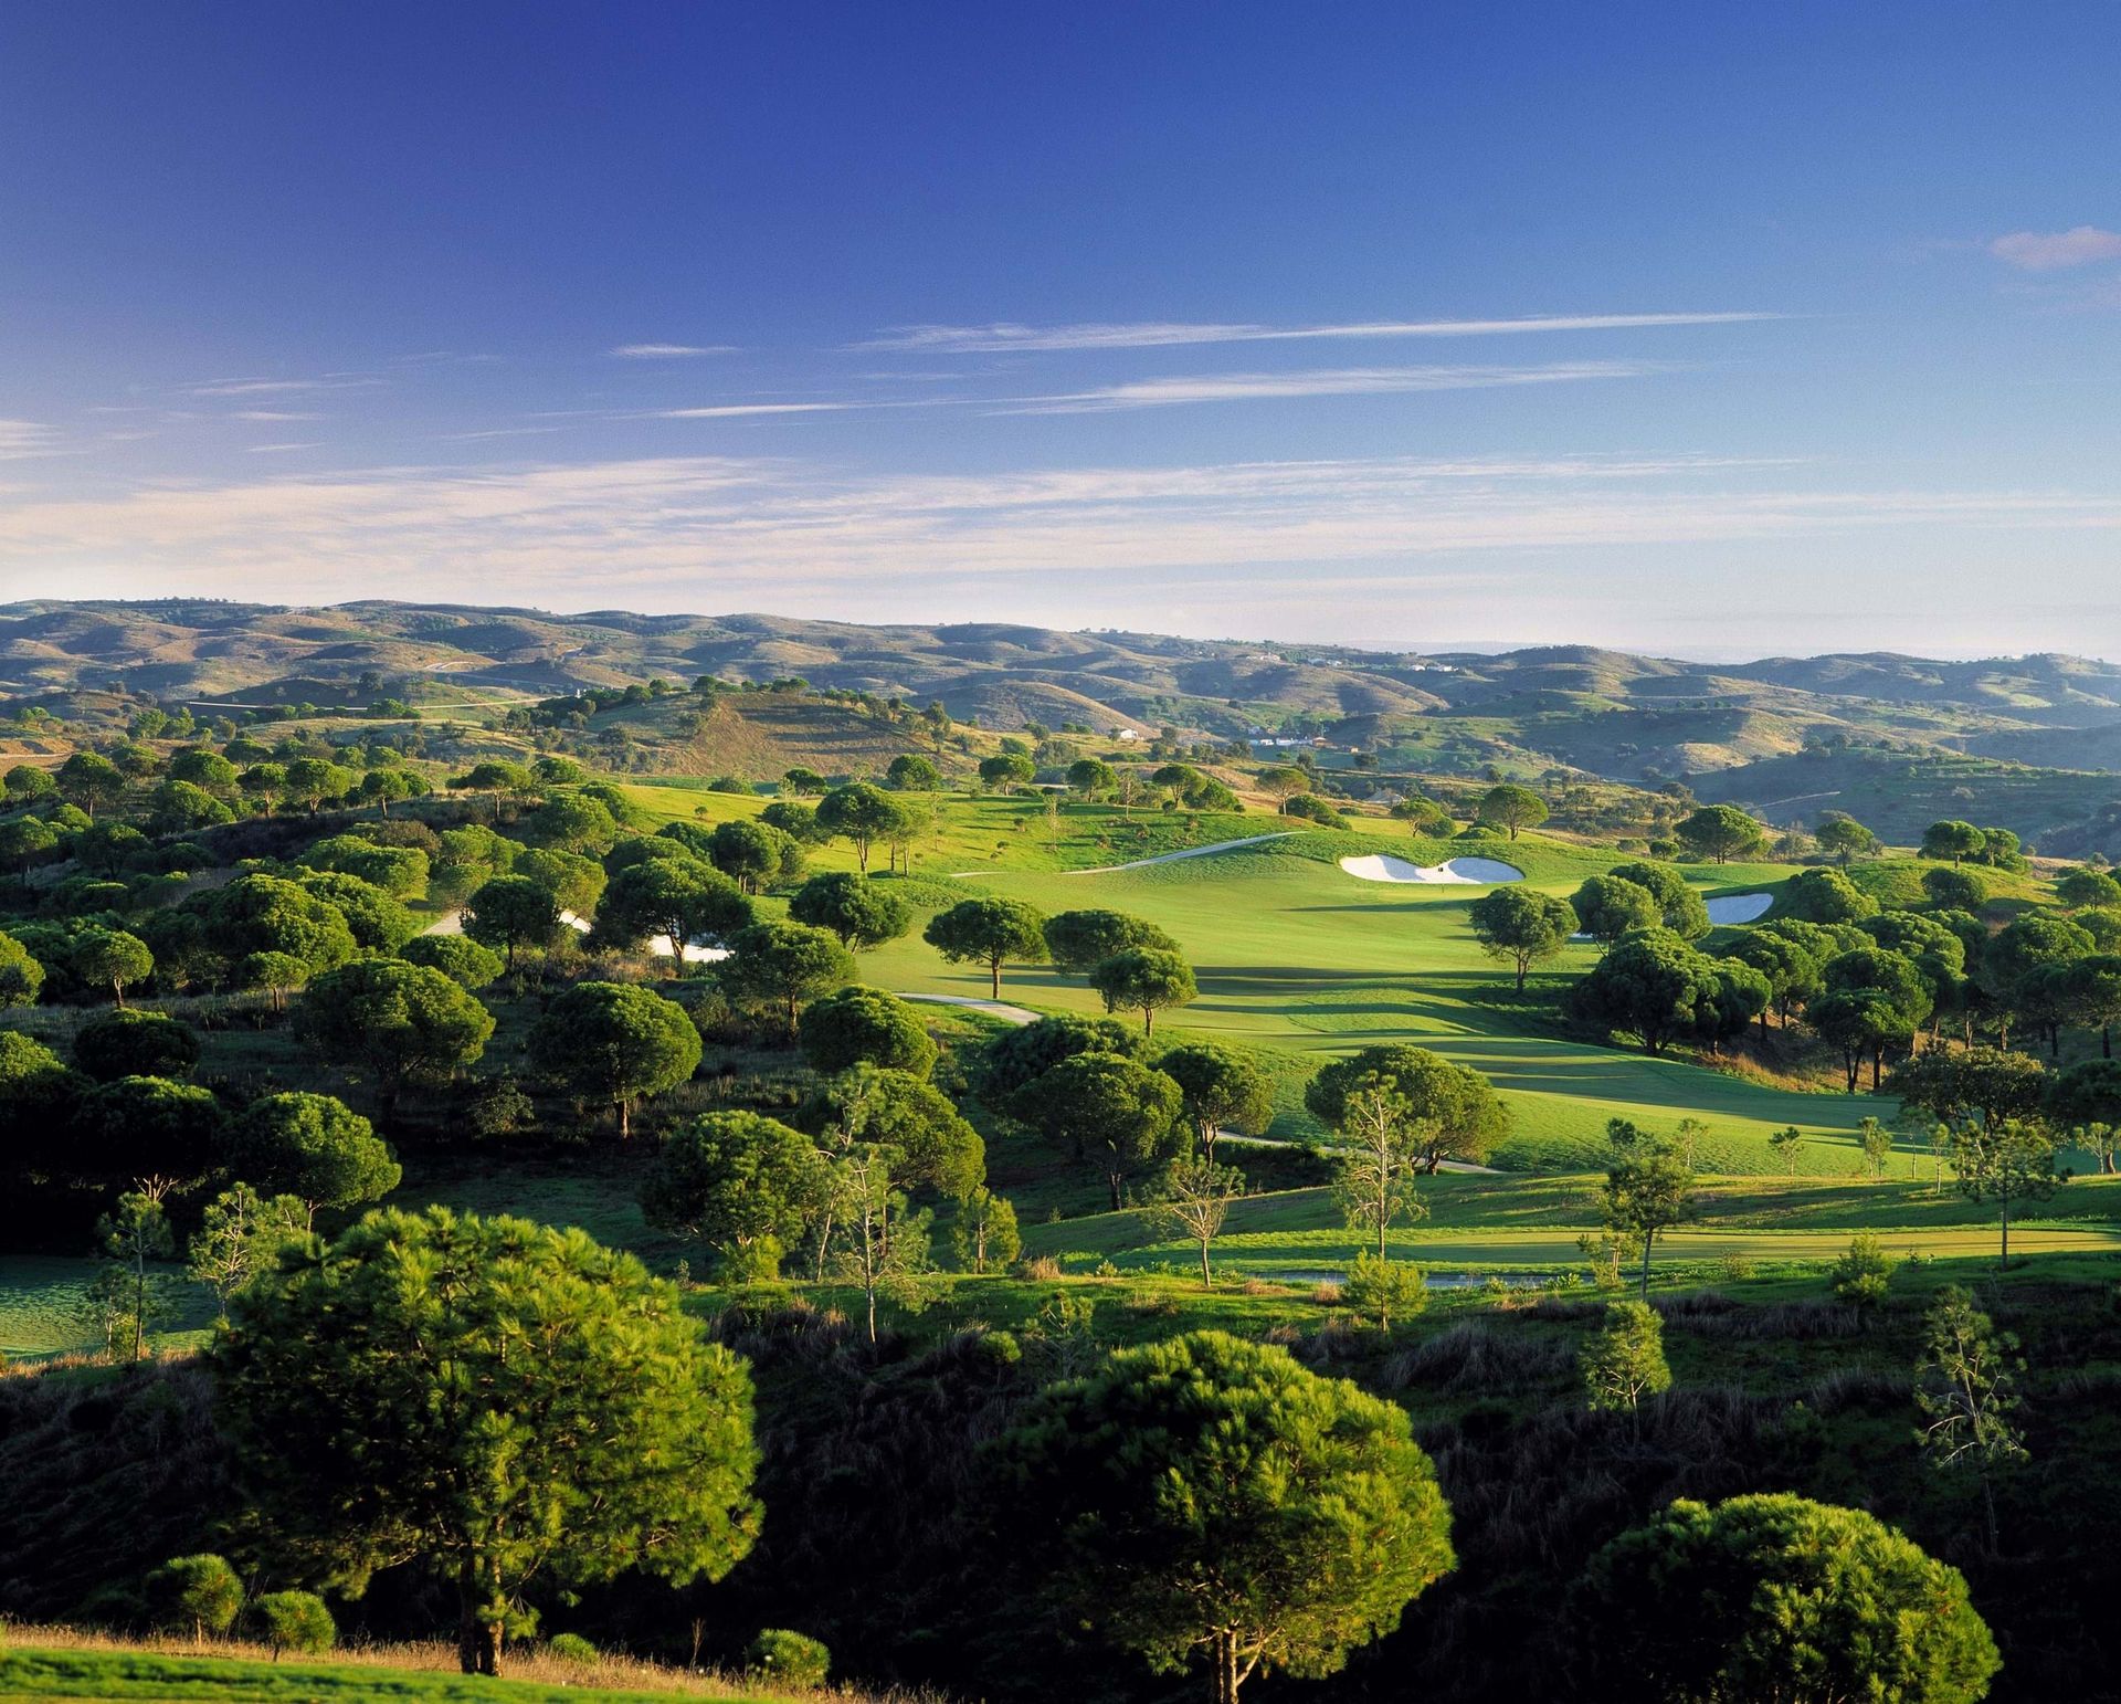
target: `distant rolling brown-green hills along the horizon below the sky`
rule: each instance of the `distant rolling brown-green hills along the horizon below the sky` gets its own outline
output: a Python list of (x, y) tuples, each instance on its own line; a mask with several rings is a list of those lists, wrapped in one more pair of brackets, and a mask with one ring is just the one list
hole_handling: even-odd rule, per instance
[[(2104, 819), (2121, 794), (2110, 779), (2121, 772), (2121, 666), (2051, 654), (1936, 662), (1877, 651), (1703, 666), (1589, 645), (1391, 654), (1007, 622), (855, 626), (204, 598), (0, 607), (0, 694), (59, 715), (87, 702), (83, 694), (117, 690), (199, 707), (325, 711), (390, 696), (486, 717), (577, 688), (698, 675), (802, 677), (914, 705), (942, 700), (959, 721), (991, 730), (1039, 721), (1111, 736), (1173, 726), (1232, 738), (1264, 728), (1324, 734), (1438, 777), (1561, 770), (1650, 787), (1682, 781), (1777, 821), (1869, 811), (1890, 832), (1926, 811), (1951, 811), (2036, 836)], [(819, 738), (844, 738), (853, 758), (874, 738), (857, 721), (834, 732), (810, 719), (776, 734), (747, 713), (742, 728), (719, 730), (728, 736), (719, 749), (759, 772), (795, 751), (814, 755)]]

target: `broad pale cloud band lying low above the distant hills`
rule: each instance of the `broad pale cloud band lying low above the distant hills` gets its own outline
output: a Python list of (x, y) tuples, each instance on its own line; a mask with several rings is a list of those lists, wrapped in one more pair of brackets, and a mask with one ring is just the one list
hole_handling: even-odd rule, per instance
[[(108, 501), (4, 497), (0, 573), (8, 584), (36, 575), (76, 596), (185, 584), (274, 596), (433, 596), (439, 586), (479, 584), (507, 586), (511, 601), (632, 596), (683, 607), (711, 598), (861, 613), (848, 605), (851, 586), (889, 584), (906, 596), (921, 586), (1024, 575), (1046, 586), (1069, 575), (1077, 588), (1103, 577), (1109, 596), (1124, 598), (1164, 571), (1287, 584), (1292, 567), (1311, 564), (1413, 573), (1468, 552), (1782, 545), (1888, 526), (1947, 528), (1960, 539), (1992, 533), (2011, 539), (1998, 550), (2021, 550), (2032, 533), (2121, 533), (2121, 497), (1818, 490), (1773, 463), (1684, 456), (1268, 460), (957, 477), (846, 477), (789, 460), (668, 456), (142, 484)], [(963, 607), (954, 592), (950, 601)]]

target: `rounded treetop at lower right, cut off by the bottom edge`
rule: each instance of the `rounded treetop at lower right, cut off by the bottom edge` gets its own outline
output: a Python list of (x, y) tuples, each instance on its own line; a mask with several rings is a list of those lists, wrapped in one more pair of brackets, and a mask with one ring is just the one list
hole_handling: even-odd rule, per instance
[(2002, 1666), (1958, 1568), (1801, 1496), (1680, 1498), (1591, 1558), (1567, 1602), (1587, 1696), (1977, 1704)]

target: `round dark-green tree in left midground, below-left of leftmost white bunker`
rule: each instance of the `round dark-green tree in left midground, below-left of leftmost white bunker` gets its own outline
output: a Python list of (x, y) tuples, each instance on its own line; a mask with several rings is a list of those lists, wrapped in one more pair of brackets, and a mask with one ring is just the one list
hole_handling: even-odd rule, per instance
[(297, 1023), (318, 1050), (369, 1072), (384, 1116), (407, 1082), (435, 1082), (486, 1053), (494, 1014), (420, 963), (363, 959), (310, 983)]

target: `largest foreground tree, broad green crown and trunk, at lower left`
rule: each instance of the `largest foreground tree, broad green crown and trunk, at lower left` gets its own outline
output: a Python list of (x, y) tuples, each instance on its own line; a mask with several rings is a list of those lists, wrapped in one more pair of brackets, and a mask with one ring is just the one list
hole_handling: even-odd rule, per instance
[(757, 1538), (744, 1362), (581, 1231), (373, 1212), (238, 1297), (210, 1362), (271, 1547), (356, 1592), (426, 1562), (467, 1674), (532, 1579), (721, 1579)]

